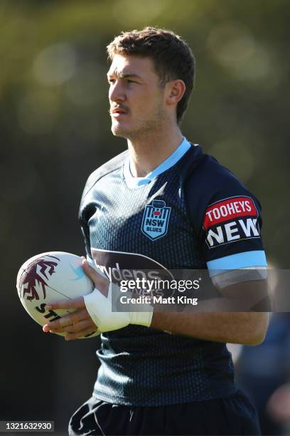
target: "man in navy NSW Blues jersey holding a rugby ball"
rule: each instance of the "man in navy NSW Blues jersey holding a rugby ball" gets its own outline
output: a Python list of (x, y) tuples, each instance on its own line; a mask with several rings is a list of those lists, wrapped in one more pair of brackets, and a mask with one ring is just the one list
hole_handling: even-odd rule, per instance
[(66, 340), (104, 332), (94, 393), (70, 435), (258, 434), (225, 343), (262, 342), (264, 313), (112, 310), (117, 273), (208, 269), (225, 296), (241, 300), (259, 287), (244, 269), (266, 260), (257, 199), (181, 134), (194, 78), (187, 44), (144, 28), (122, 33), (108, 53), (112, 133), (127, 138), (128, 150), (92, 173), (82, 196), (83, 268), (96, 288), (53, 304), (77, 311), (43, 327), (68, 332)]

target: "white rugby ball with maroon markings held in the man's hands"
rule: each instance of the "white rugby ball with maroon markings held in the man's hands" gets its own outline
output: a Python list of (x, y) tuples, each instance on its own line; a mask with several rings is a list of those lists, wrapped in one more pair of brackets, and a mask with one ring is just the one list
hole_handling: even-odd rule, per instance
[[(50, 251), (28, 259), (19, 269), (17, 291), (23, 307), (41, 326), (75, 309), (45, 310), (45, 304), (90, 294), (94, 284), (82, 269), (82, 259), (63, 251)], [(57, 333), (65, 336), (66, 333)], [(83, 338), (100, 333), (92, 332)]]

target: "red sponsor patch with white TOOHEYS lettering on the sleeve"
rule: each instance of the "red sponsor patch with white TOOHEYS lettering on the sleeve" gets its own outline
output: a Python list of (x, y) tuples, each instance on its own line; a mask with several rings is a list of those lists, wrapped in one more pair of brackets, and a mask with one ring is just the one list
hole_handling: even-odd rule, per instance
[(258, 212), (250, 197), (231, 197), (212, 204), (205, 211), (203, 228), (210, 227), (221, 222), (237, 217), (257, 217)]

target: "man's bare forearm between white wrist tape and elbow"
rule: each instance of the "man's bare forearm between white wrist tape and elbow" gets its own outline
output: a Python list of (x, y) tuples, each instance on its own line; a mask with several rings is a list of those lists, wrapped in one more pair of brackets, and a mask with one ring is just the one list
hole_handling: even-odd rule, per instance
[(161, 313), (154, 312), (151, 327), (206, 341), (257, 345), (268, 326), (265, 312)]

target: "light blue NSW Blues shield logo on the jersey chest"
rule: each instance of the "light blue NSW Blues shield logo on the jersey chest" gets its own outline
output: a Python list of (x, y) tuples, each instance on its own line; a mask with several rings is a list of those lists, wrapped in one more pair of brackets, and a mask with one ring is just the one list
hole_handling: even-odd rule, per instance
[(144, 210), (142, 221), (142, 233), (151, 241), (166, 235), (171, 207), (166, 207), (163, 200), (153, 200)]

